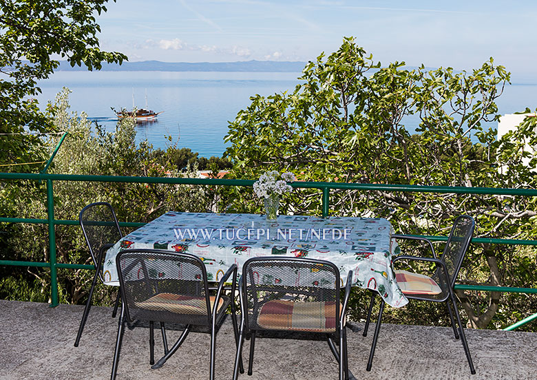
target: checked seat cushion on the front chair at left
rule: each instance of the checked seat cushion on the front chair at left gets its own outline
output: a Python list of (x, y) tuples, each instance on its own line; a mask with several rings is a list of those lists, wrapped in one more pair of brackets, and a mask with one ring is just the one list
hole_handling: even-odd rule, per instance
[[(215, 296), (209, 296), (211, 312), (215, 302)], [(159, 293), (143, 301), (134, 303), (138, 308), (156, 311), (170, 311), (178, 314), (207, 315), (207, 302), (204, 297), (191, 297), (173, 293)], [(218, 301), (218, 310), (224, 304), (224, 299)]]

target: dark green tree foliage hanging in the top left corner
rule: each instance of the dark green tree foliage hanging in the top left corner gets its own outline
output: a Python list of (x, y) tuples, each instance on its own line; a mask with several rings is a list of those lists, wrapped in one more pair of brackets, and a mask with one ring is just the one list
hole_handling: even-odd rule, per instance
[[(114, 0), (115, 1), (115, 0)], [(122, 63), (127, 56), (104, 52), (95, 14), (106, 12), (107, 0), (1, 0), (0, 7), (0, 162), (43, 159), (39, 136), (54, 130), (34, 96), (38, 82), (58, 67), (56, 57), (72, 66), (100, 69), (103, 62)], [(30, 169), (23, 166), (23, 169)]]

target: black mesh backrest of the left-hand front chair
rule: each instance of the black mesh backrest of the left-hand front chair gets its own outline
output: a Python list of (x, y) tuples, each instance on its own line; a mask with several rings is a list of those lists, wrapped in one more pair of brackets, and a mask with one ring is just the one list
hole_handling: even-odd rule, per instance
[(207, 271), (199, 257), (158, 249), (126, 249), (116, 256), (116, 265), (129, 321), (211, 323)]

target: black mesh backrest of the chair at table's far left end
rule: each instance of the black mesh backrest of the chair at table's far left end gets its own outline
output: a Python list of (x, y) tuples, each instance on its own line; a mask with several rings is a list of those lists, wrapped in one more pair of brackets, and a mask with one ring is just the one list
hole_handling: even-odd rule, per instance
[[(78, 215), (78, 221), (92, 255), (95, 268), (99, 250), (105, 244), (115, 244), (123, 234), (119, 228), (118, 219), (112, 206), (107, 202), (88, 204)], [(101, 275), (101, 279), (103, 279)]]

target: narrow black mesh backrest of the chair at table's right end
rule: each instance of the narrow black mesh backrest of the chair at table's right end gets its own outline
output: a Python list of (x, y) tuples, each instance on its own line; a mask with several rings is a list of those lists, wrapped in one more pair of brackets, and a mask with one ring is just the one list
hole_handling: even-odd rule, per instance
[(455, 285), (456, 277), (459, 275), (464, 255), (474, 234), (475, 225), (474, 218), (471, 216), (459, 216), (459, 218), (456, 218), (448, 237), (448, 242), (445, 244), (441, 260), (448, 268), (451, 287)]

